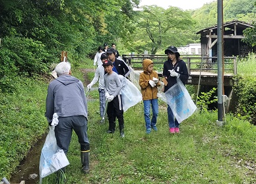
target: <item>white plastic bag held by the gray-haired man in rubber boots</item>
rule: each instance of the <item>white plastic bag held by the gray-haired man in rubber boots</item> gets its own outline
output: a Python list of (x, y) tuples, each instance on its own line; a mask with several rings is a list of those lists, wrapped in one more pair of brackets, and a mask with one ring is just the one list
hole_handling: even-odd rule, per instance
[(55, 126), (49, 127), (49, 133), (42, 148), (39, 164), (40, 179), (69, 165), (63, 149), (57, 146), (54, 128)]

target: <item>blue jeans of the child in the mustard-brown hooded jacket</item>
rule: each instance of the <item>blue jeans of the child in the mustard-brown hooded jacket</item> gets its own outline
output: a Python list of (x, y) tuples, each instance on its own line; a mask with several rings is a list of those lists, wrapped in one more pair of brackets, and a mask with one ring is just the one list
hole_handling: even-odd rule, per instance
[[(144, 104), (144, 119), (146, 122), (146, 129), (151, 129), (151, 127), (156, 126), (156, 119), (158, 116), (158, 99), (143, 100)], [(150, 104), (152, 106), (152, 119), (150, 121)]]

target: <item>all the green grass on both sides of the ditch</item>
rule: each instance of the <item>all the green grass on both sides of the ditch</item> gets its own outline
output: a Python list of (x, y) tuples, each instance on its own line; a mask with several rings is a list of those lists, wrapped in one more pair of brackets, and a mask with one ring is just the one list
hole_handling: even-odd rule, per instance
[[(93, 68), (88, 62), (81, 68)], [(84, 77), (80, 69), (73, 75)], [(0, 177), (9, 178), (48, 127), (48, 82), (21, 78), (17, 83), (15, 94), (1, 94)], [(247, 121), (227, 115), (218, 127), (216, 111), (196, 112), (181, 123), (181, 133), (170, 135), (166, 104), (159, 101), (158, 132), (146, 135), (140, 102), (125, 112), (125, 138), (120, 138), (118, 131), (106, 134), (108, 121), (99, 123), (97, 95), (97, 90), (90, 92), (96, 100), (88, 102), (90, 173), (80, 173), (80, 146), (73, 133), (67, 183), (256, 183), (256, 128)], [(43, 183), (53, 184), (54, 179), (55, 174), (49, 175)]]

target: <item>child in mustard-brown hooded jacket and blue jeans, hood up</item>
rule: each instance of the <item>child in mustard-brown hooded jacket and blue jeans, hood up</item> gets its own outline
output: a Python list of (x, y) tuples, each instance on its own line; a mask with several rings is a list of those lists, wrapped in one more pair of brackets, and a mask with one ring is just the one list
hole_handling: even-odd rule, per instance
[[(160, 86), (158, 74), (153, 71), (154, 63), (150, 59), (143, 60), (143, 73), (139, 78), (141, 94), (143, 95), (144, 119), (146, 123), (146, 134), (150, 134), (151, 129), (157, 131), (156, 119), (158, 116), (157, 86)], [(152, 106), (152, 119), (150, 119), (150, 105)]]

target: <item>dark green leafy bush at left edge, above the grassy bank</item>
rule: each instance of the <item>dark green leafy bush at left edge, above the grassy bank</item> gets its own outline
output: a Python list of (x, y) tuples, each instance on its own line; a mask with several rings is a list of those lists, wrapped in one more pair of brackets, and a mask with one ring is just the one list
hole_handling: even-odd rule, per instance
[[(0, 71), (4, 67), (5, 72), (11, 73), (15, 70), (18, 75), (32, 76), (36, 73), (47, 73), (48, 66), (46, 64), (51, 61), (44, 44), (29, 38), (3, 38), (3, 49), (0, 49), (0, 55), (3, 55), (0, 57)], [(3, 64), (8, 65), (3, 66)], [(1, 73), (1, 77), (3, 77), (3, 73)]]

